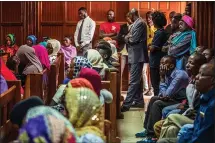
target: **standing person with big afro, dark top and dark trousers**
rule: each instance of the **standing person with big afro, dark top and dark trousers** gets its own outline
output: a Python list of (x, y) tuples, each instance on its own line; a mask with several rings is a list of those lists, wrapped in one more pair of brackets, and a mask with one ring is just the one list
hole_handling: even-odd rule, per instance
[(149, 58), (149, 66), (150, 66), (150, 78), (152, 87), (154, 89), (154, 95), (157, 96), (159, 93), (159, 83), (160, 83), (160, 75), (159, 75), (159, 67), (160, 60), (165, 55), (161, 51), (162, 46), (167, 41), (167, 33), (164, 30), (164, 26), (167, 23), (166, 17), (162, 12), (155, 11), (152, 14), (152, 21), (154, 23), (157, 31), (155, 32), (154, 38), (152, 40), (152, 44), (148, 46), (150, 50), (150, 58)]

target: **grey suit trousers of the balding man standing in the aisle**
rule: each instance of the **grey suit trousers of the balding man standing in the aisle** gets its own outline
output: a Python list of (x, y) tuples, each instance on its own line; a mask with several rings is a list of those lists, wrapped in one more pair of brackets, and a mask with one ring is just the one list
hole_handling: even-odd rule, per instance
[(143, 85), (142, 85), (142, 70), (143, 62), (130, 65), (130, 81), (126, 99), (123, 102), (123, 107), (129, 109), (133, 102), (144, 104), (143, 100)]

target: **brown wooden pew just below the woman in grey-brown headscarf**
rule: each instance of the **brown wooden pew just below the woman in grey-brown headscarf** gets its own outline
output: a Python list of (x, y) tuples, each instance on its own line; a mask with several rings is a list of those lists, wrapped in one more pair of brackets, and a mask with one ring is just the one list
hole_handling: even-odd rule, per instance
[(28, 74), (25, 81), (24, 98), (39, 96), (44, 103), (48, 100), (48, 79), (49, 71), (43, 70), (42, 73)]

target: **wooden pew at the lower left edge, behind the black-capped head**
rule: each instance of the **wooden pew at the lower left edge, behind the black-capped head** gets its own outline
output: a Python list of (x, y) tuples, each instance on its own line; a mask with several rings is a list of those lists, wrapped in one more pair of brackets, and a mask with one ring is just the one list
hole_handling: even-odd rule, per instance
[[(9, 82), (11, 86), (12, 82)], [(21, 85), (16, 82), (19, 86)], [(19, 91), (19, 92), (18, 92)], [(20, 87), (13, 85), (7, 91), (0, 95), (0, 142), (8, 143), (16, 139), (18, 129), (15, 128), (9, 120), (9, 114), (13, 106), (21, 100)]]

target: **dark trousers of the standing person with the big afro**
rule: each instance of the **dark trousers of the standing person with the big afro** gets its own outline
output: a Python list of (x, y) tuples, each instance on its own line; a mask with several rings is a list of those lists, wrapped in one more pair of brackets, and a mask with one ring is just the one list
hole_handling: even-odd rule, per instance
[(158, 96), (159, 84), (160, 84), (160, 70), (159, 70), (159, 68), (151, 68), (150, 67), (150, 78), (151, 78), (152, 87), (154, 89), (154, 96)]

